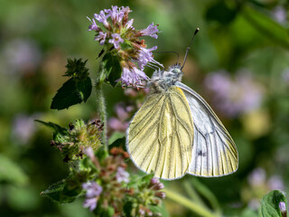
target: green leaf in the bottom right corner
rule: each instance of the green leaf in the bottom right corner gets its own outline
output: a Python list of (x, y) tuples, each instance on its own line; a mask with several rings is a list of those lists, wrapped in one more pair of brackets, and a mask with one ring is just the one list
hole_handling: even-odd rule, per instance
[(261, 215), (263, 217), (282, 217), (283, 215), (279, 209), (280, 202), (284, 202), (287, 207), (287, 200), (283, 192), (274, 190), (267, 193), (261, 200)]

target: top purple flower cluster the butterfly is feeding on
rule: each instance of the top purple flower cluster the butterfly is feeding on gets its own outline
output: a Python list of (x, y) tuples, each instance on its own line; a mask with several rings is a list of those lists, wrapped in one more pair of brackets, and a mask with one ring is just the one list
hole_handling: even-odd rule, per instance
[[(149, 24), (143, 30), (135, 30), (134, 19), (128, 18), (132, 12), (129, 7), (112, 6), (111, 9), (100, 11), (89, 19), (89, 31), (96, 33), (95, 41), (104, 45), (107, 52), (113, 52), (119, 58), (122, 68), (121, 80), (123, 86), (140, 86), (142, 80), (147, 80), (144, 66), (161, 64), (154, 61), (153, 53), (157, 47), (146, 48), (142, 36), (157, 38), (157, 26)], [(102, 26), (100, 26), (102, 25)]]

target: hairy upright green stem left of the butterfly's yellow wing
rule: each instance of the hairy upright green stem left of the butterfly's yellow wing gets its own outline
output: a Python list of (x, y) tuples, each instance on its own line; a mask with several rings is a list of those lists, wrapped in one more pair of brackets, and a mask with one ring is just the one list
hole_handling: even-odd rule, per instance
[(96, 85), (97, 93), (97, 110), (100, 116), (101, 121), (103, 122), (103, 131), (102, 131), (102, 143), (107, 146), (107, 105), (106, 99), (103, 94), (102, 84), (98, 83)]

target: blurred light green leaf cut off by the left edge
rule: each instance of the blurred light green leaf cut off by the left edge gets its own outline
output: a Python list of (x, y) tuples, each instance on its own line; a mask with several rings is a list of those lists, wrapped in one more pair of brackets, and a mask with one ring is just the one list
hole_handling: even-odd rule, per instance
[(28, 176), (11, 159), (0, 154), (0, 183), (27, 184)]

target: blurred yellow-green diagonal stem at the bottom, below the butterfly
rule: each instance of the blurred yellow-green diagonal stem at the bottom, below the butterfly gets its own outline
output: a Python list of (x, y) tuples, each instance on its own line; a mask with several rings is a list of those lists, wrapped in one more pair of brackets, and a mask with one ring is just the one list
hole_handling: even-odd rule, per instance
[(168, 189), (163, 189), (163, 191), (166, 193), (166, 197), (171, 199), (172, 201), (176, 203), (180, 203), (182, 206), (187, 207), (192, 212), (195, 212), (196, 214), (203, 216), (203, 217), (217, 217), (219, 215), (211, 212), (209, 209), (202, 207), (200, 204), (191, 202), (188, 198), (178, 194), (174, 193)]

